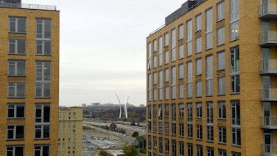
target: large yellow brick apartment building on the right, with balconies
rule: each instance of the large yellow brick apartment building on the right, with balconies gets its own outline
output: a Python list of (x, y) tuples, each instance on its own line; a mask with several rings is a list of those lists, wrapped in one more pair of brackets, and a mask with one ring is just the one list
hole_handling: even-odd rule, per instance
[(277, 155), (276, 19), (276, 0), (186, 1), (147, 37), (149, 156)]

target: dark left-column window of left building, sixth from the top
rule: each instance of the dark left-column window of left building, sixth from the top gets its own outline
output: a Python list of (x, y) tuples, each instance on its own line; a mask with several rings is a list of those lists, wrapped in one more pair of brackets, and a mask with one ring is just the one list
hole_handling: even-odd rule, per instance
[(24, 139), (24, 125), (8, 125), (7, 139)]

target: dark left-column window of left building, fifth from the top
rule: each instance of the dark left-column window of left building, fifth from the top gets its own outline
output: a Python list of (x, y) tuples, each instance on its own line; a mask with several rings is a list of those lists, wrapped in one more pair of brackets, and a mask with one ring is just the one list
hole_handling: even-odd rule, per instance
[(23, 119), (25, 103), (8, 103), (8, 119)]

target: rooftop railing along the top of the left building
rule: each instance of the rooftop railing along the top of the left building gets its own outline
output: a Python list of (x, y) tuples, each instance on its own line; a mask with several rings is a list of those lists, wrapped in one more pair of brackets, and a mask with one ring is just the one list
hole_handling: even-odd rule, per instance
[(56, 10), (56, 6), (46, 6), (28, 3), (8, 3), (0, 2), (1, 8), (26, 8), (26, 9), (37, 9), (37, 10)]

